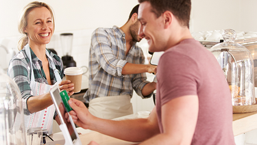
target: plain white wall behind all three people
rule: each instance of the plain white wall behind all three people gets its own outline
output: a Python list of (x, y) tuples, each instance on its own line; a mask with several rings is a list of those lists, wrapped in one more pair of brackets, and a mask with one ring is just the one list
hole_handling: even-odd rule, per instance
[[(22, 8), (32, 0), (0, 0), (0, 38), (10, 38), (16, 46), (21, 34), (17, 23)], [(47, 48), (55, 49), (62, 56), (60, 34), (73, 33), (73, 51), (77, 66), (88, 65), (90, 36), (97, 27), (121, 27), (137, 0), (44, 0), (51, 5), (56, 18), (56, 31)], [(256, 0), (192, 0), (190, 29), (210, 31), (235, 29), (257, 31)], [(147, 53), (147, 42), (140, 42)], [(145, 54), (147, 55), (147, 54)]]

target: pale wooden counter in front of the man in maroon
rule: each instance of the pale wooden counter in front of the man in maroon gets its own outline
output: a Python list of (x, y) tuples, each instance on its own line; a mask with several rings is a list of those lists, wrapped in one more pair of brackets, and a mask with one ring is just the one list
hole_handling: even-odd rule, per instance
[[(150, 111), (140, 111), (138, 114), (132, 114), (129, 116), (123, 116), (121, 118), (116, 118), (114, 120), (123, 120), (123, 119), (133, 119), (133, 118), (147, 118), (149, 116)], [(246, 114), (233, 114), (233, 132), (234, 136), (240, 135), (242, 133), (246, 133), (247, 131), (252, 131), (257, 129), (257, 111)], [(95, 141), (101, 145), (127, 145), (127, 144), (138, 144), (135, 142), (126, 142), (123, 140), (119, 140), (114, 137), (110, 137), (108, 135), (103, 135), (96, 131), (90, 131), (88, 129), (77, 128), (77, 132), (82, 133), (79, 135), (80, 140), (82, 140), (83, 145), (87, 145), (91, 141)], [(53, 140), (63, 140), (64, 137), (62, 133), (54, 133), (51, 135)]]

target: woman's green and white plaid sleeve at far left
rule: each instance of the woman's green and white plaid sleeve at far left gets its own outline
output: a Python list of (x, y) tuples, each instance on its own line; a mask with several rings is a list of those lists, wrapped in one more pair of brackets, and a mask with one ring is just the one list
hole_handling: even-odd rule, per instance
[(27, 99), (32, 96), (31, 95), (31, 88), (29, 86), (29, 78), (30, 78), (30, 69), (29, 64), (26, 62), (26, 59), (22, 53), (14, 57), (9, 64), (8, 67), (8, 75), (12, 78), (16, 84), (18, 85), (22, 101), (23, 101), (23, 109), (24, 114), (29, 115), (29, 110), (27, 109)]

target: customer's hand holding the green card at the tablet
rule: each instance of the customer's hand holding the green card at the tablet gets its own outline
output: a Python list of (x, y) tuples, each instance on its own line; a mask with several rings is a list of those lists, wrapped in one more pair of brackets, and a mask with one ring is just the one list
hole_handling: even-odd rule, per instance
[[(82, 101), (78, 101), (75, 98), (70, 98), (69, 105), (71, 105), (72, 111), (69, 114), (73, 118), (73, 122), (83, 129), (89, 129), (90, 121), (94, 116), (89, 113), (86, 105)], [(65, 118), (69, 121), (68, 114), (65, 114)]]

